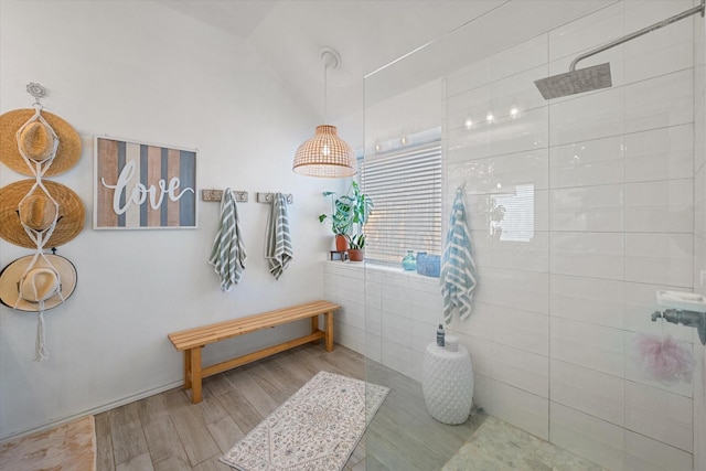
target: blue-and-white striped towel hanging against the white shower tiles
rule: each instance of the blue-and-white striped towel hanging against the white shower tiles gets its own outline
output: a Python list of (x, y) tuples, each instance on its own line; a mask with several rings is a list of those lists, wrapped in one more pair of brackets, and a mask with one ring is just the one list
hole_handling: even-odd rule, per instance
[(475, 289), (475, 263), (471, 256), (471, 237), (466, 218), (463, 203), (463, 188), (456, 190), (449, 232), (446, 236), (446, 247), (441, 258), (441, 295), (443, 295), (443, 320), (451, 322), (453, 310), (459, 318), (466, 319), (471, 314), (473, 290)]

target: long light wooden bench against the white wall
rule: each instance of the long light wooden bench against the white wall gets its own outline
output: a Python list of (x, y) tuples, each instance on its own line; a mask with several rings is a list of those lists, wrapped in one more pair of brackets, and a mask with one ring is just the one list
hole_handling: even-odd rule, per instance
[[(204, 377), (303, 345), (304, 343), (318, 342), (321, 339), (324, 339), (327, 352), (331, 352), (333, 350), (333, 311), (340, 308), (341, 306), (329, 301), (312, 301), (170, 333), (168, 336), (174, 347), (180, 352), (184, 352), (184, 389), (191, 389), (191, 402), (194, 404), (201, 402), (201, 381)], [(324, 330), (319, 329), (320, 314), (325, 315)], [(205, 367), (201, 365), (201, 350), (205, 345), (309, 318), (311, 318), (311, 333), (309, 335), (278, 343), (277, 345), (236, 356), (233, 360), (214, 365)]]

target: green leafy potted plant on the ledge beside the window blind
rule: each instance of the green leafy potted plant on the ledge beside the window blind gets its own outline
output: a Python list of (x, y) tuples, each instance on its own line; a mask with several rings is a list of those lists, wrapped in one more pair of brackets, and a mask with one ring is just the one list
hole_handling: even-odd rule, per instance
[[(367, 217), (373, 211), (373, 200), (365, 193), (354, 180), (349, 186), (346, 194), (334, 197), (335, 192), (324, 191), (324, 197), (331, 197), (331, 214), (320, 214), (319, 222), (331, 221), (331, 232), (336, 236), (336, 250), (343, 251), (351, 244), (351, 229), (357, 225), (362, 235), (362, 227), (367, 222)], [(342, 245), (340, 245), (342, 243)], [(360, 238), (356, 239), (360, 243)], [(365, 237), (363, 237), (365, 244)]]

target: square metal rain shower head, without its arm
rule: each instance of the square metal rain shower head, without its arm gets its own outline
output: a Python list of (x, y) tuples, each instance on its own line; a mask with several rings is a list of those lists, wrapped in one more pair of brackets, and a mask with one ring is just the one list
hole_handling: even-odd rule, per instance
[(534, 81), (544, 99), (559, 98), (567, 95), (597, 90), (612, 86), (610, 63), (579, 68), (565, 74)]

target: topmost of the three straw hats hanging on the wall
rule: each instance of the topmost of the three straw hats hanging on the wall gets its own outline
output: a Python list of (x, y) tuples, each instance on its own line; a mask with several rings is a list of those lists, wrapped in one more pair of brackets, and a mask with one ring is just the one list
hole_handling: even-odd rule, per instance
[[(52, 165), (44, 176), (57, 175), (73, 168), (81, 159), (81, 136), (64, 119), (49, 111), (42, 110), (42, 117), (52, 129), (42, 121), (34, 120), (24, 126), (34, 116), (34, 109), (14, 109), (0, 115), (0, 161), (10, 169), (23, 175), (32, 176), (24, 159), (20, 154), (20, 146), (25, 156), (34, 161), (42, 162), (49, 159), (56, 144), (52, 129), (58, 137), (58, 148)], [(18, 142), (17, 132), (22, 129)]]

